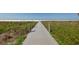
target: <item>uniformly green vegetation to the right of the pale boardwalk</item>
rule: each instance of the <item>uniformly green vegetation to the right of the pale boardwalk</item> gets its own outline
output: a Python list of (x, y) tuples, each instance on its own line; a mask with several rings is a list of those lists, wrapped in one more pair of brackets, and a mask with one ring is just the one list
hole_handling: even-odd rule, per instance
[(50, 34), (61, 45), (79, 44), (79, 21), (43, 21)]

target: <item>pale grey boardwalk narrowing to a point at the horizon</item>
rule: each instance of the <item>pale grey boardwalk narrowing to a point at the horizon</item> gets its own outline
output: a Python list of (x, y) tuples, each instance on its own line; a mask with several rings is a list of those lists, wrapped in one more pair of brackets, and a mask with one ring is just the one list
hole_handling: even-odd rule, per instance
[(41, 22), (38, 22), (23, 42), (24, 45), (57, 45)]

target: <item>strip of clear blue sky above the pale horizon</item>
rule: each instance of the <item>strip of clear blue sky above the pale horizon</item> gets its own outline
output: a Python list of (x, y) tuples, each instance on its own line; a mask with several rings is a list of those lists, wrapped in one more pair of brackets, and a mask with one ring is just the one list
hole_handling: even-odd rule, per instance
[(76, 13), (0, 13), (0, 19), (79, 20)]

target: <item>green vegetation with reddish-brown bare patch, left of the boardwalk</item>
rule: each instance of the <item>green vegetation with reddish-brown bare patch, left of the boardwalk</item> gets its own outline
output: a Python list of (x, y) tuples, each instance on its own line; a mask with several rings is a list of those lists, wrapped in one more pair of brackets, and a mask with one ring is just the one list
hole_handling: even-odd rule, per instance
[(22, 44), (36, 22), (0, 22), (0, 44)]

